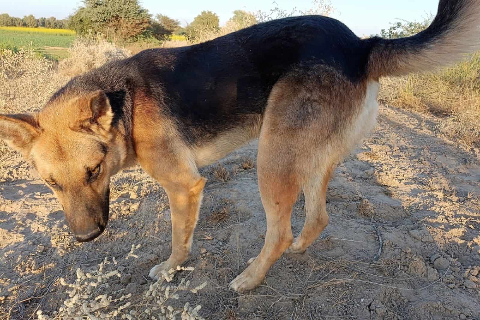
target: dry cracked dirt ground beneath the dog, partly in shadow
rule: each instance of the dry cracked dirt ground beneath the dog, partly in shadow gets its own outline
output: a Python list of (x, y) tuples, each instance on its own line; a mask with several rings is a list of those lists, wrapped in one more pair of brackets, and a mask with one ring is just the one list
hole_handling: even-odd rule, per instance
[[(209, 181), (185, 263), (195, 270), (173, 283), (208, 285), (173, 303), (200, 304), (205, 319), (480, 319), (480, 152), (446, 138), (443, 126), (381, 106), (376, 129), (329, 184), (321, 237), (304, 254), (283, 255), (247, 294), (228, 283), (264, 241), (255, 141), (202, 169)], [(121, 172), (108, 229), (80, 244), (32, 167), (0, 148), (0, 318), (52, 315), (67, 298), (60, 277), (73, 282), (78, 267), (95, 270), (105, 257), (121, 273), (108, 280), (111, 292), (132, 293), (141, 312), (148, 271), (171, 250), (163, 189), (140, 168)], [(304, 217), (300, 194), (294, 234)], [(132, 244), (138, 258), (127, 260)], [(140, 312), (134, 319), (148, 318)]]

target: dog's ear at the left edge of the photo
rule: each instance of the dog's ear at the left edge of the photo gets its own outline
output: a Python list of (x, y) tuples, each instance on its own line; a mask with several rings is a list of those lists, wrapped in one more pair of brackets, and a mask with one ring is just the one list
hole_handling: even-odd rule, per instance
[(0, 139), (25, 158), (30, 155), (32, 142), (40, 132), (36, 114), (0, 114)]

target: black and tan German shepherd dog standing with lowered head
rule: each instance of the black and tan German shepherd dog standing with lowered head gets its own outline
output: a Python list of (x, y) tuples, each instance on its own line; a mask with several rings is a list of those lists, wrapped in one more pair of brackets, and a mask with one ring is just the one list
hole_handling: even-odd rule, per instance
[[(479, 25), (480, 0), (440, 0), (432, 24), (406, 38), (360, 39), (335, 19), (302, 16), (148, 49), (73, 78), (38, 113), (0, 115), (0, 138), (35, 166), (82, 242), (107, 225), (110, 177), (139, 163), (171, 209), (172, 253), (151, 269), (157, 278), (189, 255), (206, 181), (198, 168), (258, 137), (267, 231), (230, 283), (244, 292), (328, 224), (327, 184), (375, 125), (379, 78), (458, 61), (479, 47)], [(300, 189), (306, 218), (294, 239)]]

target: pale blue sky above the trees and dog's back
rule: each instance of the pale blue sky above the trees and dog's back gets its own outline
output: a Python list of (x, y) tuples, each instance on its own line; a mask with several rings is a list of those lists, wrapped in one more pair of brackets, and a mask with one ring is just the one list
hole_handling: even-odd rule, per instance
[[(0, 0), (0, 13), (23, 17), (33, 14), (41, 16), (55, 16), (58, 19), (66, 18), (75, 11), (82, 2), (80, 0)], [(224, 24), (237, 9), (256, 12), (269, 11), (278, 6), (288, 12), (297, 7), (306, 10), (312, 7), (312, 0), (183, 0), (159, 1), (140, 0), (144, 8), (152, 14), (162, 13), (178, 19), (184, 25), (192, 22), (193, 18), (203, 10), (214, 11), (220, 17), (220, 25)], [(389, 22), (396, 19), (423, 20), (429, 13), (436, 13), (438, 0), (332, 0), (337, 9), (332, 16), (345, 23), (357, 35), (379, 33), (380, 29), (387, 29)]]

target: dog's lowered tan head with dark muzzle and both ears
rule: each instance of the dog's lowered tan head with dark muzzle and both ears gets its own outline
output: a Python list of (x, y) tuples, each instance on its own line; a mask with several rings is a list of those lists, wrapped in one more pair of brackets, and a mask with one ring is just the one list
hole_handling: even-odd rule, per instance
[(0, 114), (0, 138), (35, 166), (81, 242), (105, 229), (110, 176), (126, 158), (125, 139), (113, 120), (102, 91), (63, 94), (36, 114)]

